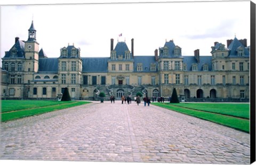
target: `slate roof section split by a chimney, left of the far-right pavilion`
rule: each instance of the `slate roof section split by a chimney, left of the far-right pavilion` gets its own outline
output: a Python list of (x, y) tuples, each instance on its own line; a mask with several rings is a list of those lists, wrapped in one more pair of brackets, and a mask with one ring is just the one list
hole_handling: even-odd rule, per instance
[[(192, 64), (197, 63), (195, 56), (183, 56), (183, 64), (187, 64), (187, 71), (192, 70)], [(208, 71), (212, 71), (212, 56), (199, 56), (200, 62), (197, 63), (198, 71), (203, 71), (203, 65), (208, 65)]]

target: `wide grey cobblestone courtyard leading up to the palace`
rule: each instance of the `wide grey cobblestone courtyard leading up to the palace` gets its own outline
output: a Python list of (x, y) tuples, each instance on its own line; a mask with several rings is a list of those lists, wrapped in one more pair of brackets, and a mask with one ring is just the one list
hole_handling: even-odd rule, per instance
[(1, 123), (1, 159), (249, 164), (250, 135), (157, 106), (91, 103)]

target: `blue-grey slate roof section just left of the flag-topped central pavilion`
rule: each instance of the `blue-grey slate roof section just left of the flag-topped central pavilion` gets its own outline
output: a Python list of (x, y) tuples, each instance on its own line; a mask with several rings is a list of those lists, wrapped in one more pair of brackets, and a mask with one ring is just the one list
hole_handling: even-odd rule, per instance
[(109, 57), (82, 57), (83, 72), (108, 72)]

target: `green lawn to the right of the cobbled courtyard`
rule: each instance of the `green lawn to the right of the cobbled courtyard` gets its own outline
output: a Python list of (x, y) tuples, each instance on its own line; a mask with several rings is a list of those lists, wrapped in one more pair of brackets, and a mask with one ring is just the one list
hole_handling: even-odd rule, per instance
[[(247, 133), (249, 133), (250, 131), (249, 104), (218, 104), (218, 103), (213, 103), (213, 104), (191, 103), (191, 104), (189, 103), (180, 103), (180, 104), (153, 103), (153, 105), (161, 106), (169, 110), (188, 114), (189, 116), (219, 123), (224, 126), (245, 131)], [(234, 106), (239, 107), (239, 109), (234, 108)], [(198, 110), (204, 110), (204, 111), (191, 110), (191, 109), (187, 109), (186, 107), (198, 109)], [(229, 108), (233, 108), (233, 109), (230, 110)], [(210, 113), (210, 112), (214, 112), (214, 113)], [(234, 113), (236, 114), (237, 117), (242, 117), (242, 118), (247, 117), (246, 116), (247, 114), (248, 119), (237, 118), (234, 116), (227, 116), (228, 114), (233, 115)], [(223, 115), (223, 114), (226, 114), (226, 115)]]

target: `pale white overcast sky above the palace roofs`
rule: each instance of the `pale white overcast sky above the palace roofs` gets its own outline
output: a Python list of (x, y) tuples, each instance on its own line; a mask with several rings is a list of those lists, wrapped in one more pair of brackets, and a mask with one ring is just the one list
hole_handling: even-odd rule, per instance
[[(2, 5), (1, 57), (14, 45), (15, 37), (28, 39), (32, 20), (39, 48), (43, 48), (48, 57), (59, 57), (60, 48), (73, 43), (81, 48), (82, 57), (108, 57), (111, 38), (114, 46), (118, 40), (125, 41), (130, 51), (134, 38), (134, 55), (154, 55), (155, 49), (172, 39), (182, 48), (182, 55), (194, 55), (196, 49), (200, 50), (200, 55), (211, 55), (214, 42), (226, 45), (226, 40), (234, 39), (235, 35), (238, 39), (246, 38), (250, 45), (250, 1), (63, 2)], [(121, 33), (122, 37), (118, 37)]]

